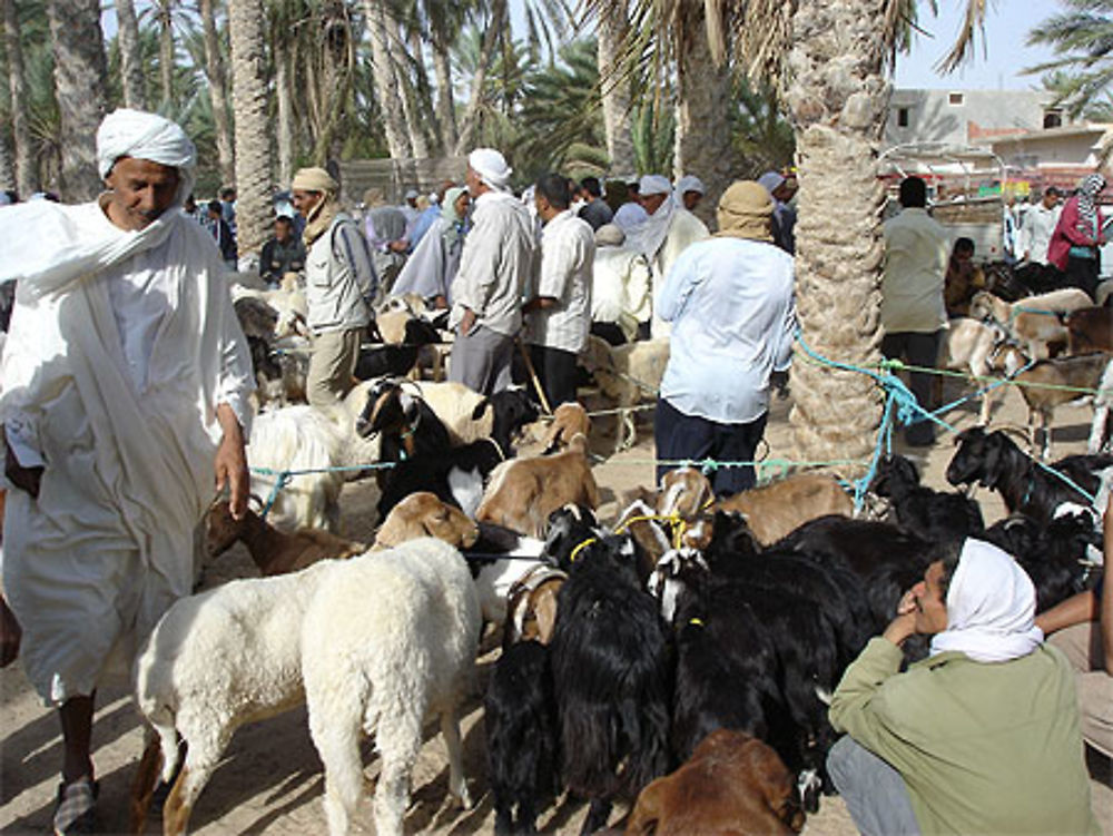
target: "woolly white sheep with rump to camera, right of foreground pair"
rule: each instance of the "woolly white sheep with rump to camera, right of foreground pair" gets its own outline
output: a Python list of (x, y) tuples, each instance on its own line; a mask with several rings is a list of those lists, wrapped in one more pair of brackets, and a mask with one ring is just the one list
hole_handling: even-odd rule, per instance
[(449, 791), (466, 808), (457, 706), (475, 666), (480, 606), (460, 552), (414, 540), (331, 568), (302, 626), (309, 731), (325, 765), (331, 836), (363, 795), (359, 741), (375, 734), (382, 770), (375, 832), (401, 836), (426, 717), (449, 750)]

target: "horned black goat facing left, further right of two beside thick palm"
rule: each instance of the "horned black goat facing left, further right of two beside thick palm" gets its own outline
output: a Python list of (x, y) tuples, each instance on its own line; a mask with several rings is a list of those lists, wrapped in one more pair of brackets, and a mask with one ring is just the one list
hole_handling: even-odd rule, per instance
[[(1055, 517), (1065, 502), (1083, 504), (1087, 499), (1062, 479), (1048, 473), (999, 430), (986, 434), (971, 427), (958, 435), (958, 450), (947, 465), (953, 485), (977, 482), (997, 491), (1009, 513), (1023, 513), (1041, 525)], [(1113, 455), (1068, 455), (1051, 468), (1091, 495), (1101, 488), (1101, 472), (1113, 466)]]

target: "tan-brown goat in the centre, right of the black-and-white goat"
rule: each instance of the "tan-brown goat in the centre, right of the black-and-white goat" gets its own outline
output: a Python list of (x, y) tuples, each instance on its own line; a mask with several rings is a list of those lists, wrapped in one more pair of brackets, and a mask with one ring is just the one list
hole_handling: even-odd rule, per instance
[[(565, 406), (570, 420), (587, 422), (582, 406), (561, 404), (558, 410)], [(568, 504), (599, 506), (599, 486), (588, 464), (588, 436), (583, 432), (568, 437), (563, 453), (515, 459), (495, 468), (475, 519), (526, 537), (544, 537), (549, 514)]]

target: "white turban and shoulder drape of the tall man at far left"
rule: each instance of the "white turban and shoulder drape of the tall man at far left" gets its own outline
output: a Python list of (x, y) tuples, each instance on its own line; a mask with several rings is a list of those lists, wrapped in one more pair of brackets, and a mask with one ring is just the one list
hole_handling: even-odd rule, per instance
[[(0, 258), (0, 282), (18, 279), (22, 298), (60, 293), (82, 276), (158, 246), (179, 220), (193, 223), (176, 212), (193, 190), (196, 163), (194, 144), (178, 125), (156, 114), (115, 110), (97, 130), (97, 170), (107, 175), (120, 157), (178, 169), (170, 208), (142, 229), (125, 230), (104, 224), (96, 214), (75, 214), (75, 207), (49, 200), (14, 206), (6, 220), (20, 234), (9, 237)], [(43, 240), (51, 246), (43, 247)]]

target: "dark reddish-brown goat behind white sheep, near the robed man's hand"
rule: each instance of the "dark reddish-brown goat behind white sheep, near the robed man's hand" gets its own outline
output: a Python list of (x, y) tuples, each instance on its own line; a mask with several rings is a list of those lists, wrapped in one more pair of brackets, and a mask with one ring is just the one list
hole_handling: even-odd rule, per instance
[(205, 514), (205, 550), (215, 558), (242, 540), (264, 577), (296, 572), (319, 560), (344, 560), (367, 551), (366, 543), (345, 540), (319, 529), (287, 534), (249, 510), (234, 520), (227, 500), (214, 502)]

